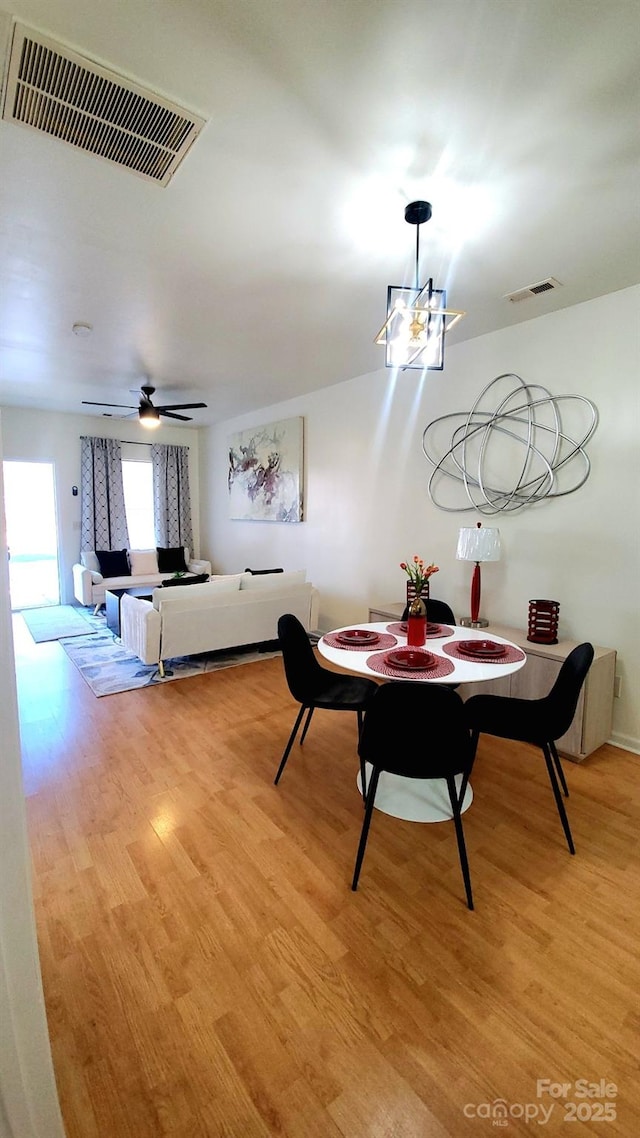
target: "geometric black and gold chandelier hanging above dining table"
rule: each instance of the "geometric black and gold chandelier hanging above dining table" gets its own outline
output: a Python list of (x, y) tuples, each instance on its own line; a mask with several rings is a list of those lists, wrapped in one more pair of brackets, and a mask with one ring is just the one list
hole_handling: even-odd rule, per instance
[(444, 336), (466, 315), (446, 307), (446, 292), (434, 288), (432, 277), (420, 284), (420, 225), (430, 216), (428, 201), (410, 201), (404, 209), (404, 221), (416, 226), (416, 283), (387, 288), (387, 318), (375, 339), (385, 345), (386, 368), (442, 371)]

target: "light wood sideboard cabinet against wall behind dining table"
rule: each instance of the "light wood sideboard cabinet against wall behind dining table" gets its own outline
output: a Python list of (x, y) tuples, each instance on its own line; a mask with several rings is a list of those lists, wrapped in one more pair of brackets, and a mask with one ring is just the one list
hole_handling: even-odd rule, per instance
[[(385, 604), (369, 609), (369, 620), (399, 620), (404, 604)], [(428, 602), (427, 602), (428, 609)], [(519, 671), (483, 684), (461, 684), (458, 691), (462, 699), (470, 695), (514, 695), (525, 700), (541, 699), (552, 687), (560, 666), (580, 641), (559, 641), (557, 644), (533, 644), (522, 628), (490, 624), (487, 636), (494, 633), (504, 636), (527, 654), (527, 661)], [(560, 754), (573, 762), (582, 762), (588, 754), (606, 743), (612, 733), (614, 710), (614, 683), (616, 652), (612, 648), (597, 648), (586, 681), (580, 693), (574, 720), (556, 743)]]

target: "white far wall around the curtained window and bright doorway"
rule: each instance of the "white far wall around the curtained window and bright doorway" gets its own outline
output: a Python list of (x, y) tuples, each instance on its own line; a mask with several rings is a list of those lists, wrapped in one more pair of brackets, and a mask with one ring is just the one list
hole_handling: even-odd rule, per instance
[(60, 602), (73, 596), (72, 566), (80, 553), (80, 493), (72, 496), (72, 486), (80, 488), (80, 437), (99, 435), (132, 443), (166, 443), (189, 447), (189, 483), (194, 522), (194, 554), (199, 549), (198, 430), (184, 427), (159, 427), (145, 432), (137, 420), (105, 419), (97, 415), (56, 414), (50, 411), (2, 409), (5, 459), (23, 462), (52, 462), (56, 483), (58, 544), (60, 555)]

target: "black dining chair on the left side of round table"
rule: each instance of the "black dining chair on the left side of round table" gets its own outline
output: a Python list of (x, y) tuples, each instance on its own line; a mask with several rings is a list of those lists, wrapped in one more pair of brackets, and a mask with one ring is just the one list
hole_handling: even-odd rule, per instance
[[(300, 740), (301, 747), (304, 743), (304, 737), (309, 731), (311, 717), (315, 708), (325, 708), (327, 711), (355, 711), (358, 716), (358, 736), (360, 737), (364, 709), (378, 690), (378, 684), (375, 679), (367, 679), (364, 676), (346, 676), (344, 673), (330, 671), (329, 668), (323, 668), (315, 657), (304, 625), (293, 613), (286, 612), (278, 620), (278, 638), (282, 650), (282, 662), (285, 665), (285, 676), (287, 677), (289, 692), (294, 700), (297, 700), (300, 703), (300, 711), (285, 748), (285, 753), (280, 760), (278, 774), (273, 780), (276, 785), (278, 785), (280, 775), (285, 769), (289, 751), (292, 750), (305, 712), (306, 720)], [(364, 785), (364, 765), (362, 761), (360, 769), (362, 785)]]

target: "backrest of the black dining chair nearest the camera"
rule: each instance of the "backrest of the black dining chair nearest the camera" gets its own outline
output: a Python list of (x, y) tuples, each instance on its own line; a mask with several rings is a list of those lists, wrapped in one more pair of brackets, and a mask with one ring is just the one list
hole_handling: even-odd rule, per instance
[(446, 778), (470, 769), (473, 750), (458, 692), (416, 681), (381, 684), (364, 712), (359, 754), (405, 778)]

